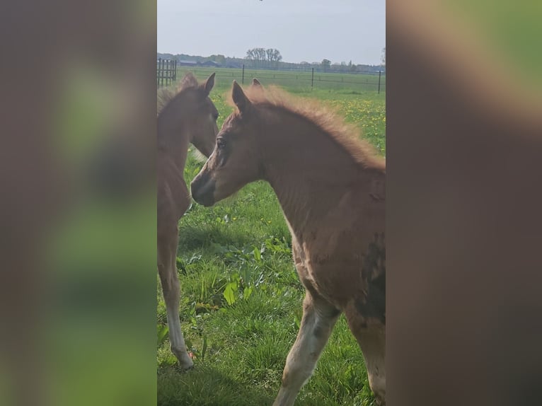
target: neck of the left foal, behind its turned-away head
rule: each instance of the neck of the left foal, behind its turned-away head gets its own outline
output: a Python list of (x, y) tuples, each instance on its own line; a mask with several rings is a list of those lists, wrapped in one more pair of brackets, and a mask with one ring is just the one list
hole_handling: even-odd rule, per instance
[(158, 150), (183, 170), (190, 144), (190, 117), (185, 114), (182, 97), (175, 98), (170, 103), (173, 105), (166, 106), (161, 115), (158, 115)]

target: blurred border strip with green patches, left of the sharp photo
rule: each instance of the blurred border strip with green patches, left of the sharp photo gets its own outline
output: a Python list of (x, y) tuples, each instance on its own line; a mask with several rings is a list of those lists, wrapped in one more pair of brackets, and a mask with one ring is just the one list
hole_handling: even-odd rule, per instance
[(154, 404), (156, 2), (0, 21), (0, 404)]

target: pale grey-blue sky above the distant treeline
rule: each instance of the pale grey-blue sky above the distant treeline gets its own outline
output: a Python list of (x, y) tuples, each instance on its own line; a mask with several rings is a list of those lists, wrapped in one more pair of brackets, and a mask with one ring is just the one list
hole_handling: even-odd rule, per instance
[(377, 65), (384, 0), (157, 0), (158, 52), (243, 58), (276, 48), (283, 62)]

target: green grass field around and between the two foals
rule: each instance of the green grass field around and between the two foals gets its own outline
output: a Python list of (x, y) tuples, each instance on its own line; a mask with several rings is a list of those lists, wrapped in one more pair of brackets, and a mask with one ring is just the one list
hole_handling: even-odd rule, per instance
[[(204, 79), (213, 69), (196, 69)], [(232, 111), (224, 103), (231, 79), (219, 76), (212, 100), (221, 122)], [(246, 83), (247, 76), (246, 71)], [(273, 83), (258, 71), (265, 85)], [(353, 75), (352, 75), (353, 76)], [(277, 83), (284, 86), (284, 83)], [(303, 97), (338, 108), (386, 152), (385, 95), (355, 88), (284, 86)], [(190, 182), (202, 163), (190, 156)], [(166, 308), (158, 282), (158, 405), (271, 405), (301, 320), (304, 291), (291, 255), (291, 238), (275, 193), (265, 182), (243, 187), (211, 208), (192, 204), (180, 220), (178, 272), (180, 317), (195, 369), (181, 373), (169, 351)], [(371, 405), (374, 402), (362, 353), (343, 317), (296, 405)]]

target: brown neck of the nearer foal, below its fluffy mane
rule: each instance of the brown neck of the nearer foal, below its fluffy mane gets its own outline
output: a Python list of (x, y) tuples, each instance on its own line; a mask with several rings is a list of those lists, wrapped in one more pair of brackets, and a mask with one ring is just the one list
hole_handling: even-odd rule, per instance
[(352, 188), (359, 166), (316, 124), (283, 117), (263, 134), (265, 178), (296, 235), (317, 224)]

